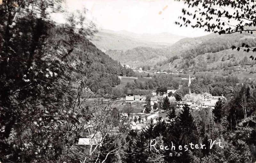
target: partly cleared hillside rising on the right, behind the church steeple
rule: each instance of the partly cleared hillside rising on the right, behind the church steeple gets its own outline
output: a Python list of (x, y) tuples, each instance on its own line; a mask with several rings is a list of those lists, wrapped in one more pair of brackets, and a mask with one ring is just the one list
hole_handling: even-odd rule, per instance
[[(197, 38), (184, 38), (172, 45), (173, 49), (181, 48), (179, 54), (170, 51), (169, 59), (160, 63), (160, 70), (177, 72), (216, 71), (225, 73), (256, 73), (253, 66), (256, 61), (249, 57), (253, 52), (232, 50), (231, 46), (241, 46), (242, 43), (256, 47), (256, 34), (233, 33), (227, 35), (209, 34)], [(172, 58), (172, 56), (178, 56)], [(168, 56), (166, 56), (168, 57)]]

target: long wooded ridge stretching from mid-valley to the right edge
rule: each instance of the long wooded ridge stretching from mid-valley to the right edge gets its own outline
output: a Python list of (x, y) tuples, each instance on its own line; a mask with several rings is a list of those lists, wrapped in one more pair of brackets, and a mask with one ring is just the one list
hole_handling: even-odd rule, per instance
[[(198, 71), (202, 71), (201, 69), (205, 69), (206, 63), (212, 64), (208, 67), (210, 70), (214, 66), (215, 69), (216, 66), (219, 66), (218, 69), (222, 69), (222, 65), (220, 65), (218, 61), (224, 60), (228, 61), (228, 63), (230, 61), (232, 65), (239, 65), (240, 62), (245, 64), (242, 60), (246, 60), (246, 57), (248, 59), (251, 54), (245, 53), (242, 50), (239, 52), (231, 50), (232, 45), (239, 46), (243, 42), (248, 44), (250, 47), (256, 46), (255, 34), (249, 35), (246, 33), (234, 33), (230, 35), (219, 35), (212, 33), (197, 38), (184, 38), (174, 43), (172, 46), (166, 48), (136, 47), (129, 50), (107, 50), (106, 54), (125, 64), (136, 63), (145, 66), (152, 66), (152, 64), (155, 64), (162, 66), (158, 68), (161, 70), (170, 69), (169, 63), (172, 63), (173, 60), (180, 58), (180, 60), (178, 59), (176, 62), (173, 62), (173, 66), (171, 65), (171, 70), (186, 69), (193, 65), (196, 69), (198, 69)], [(231, 56), (232, 60), (229, 60)], [(198, 62), (198, 59), (196, 58), (201, 57), (207, 59), (202, 60), (201, 63), (196, 64)], [(222, 57), (224, 58), (222, 59)], [(215, 64), (215, 62), (218, 63)], [(231, 63), (229, 63), (229, 67)], [(250, 60), (248, 60), (248, 63), (246, 64), (250, 63)], [(226, 62), (224, 65), (225, 64)], [(177, 67), (175, 65), (179, 66)]]

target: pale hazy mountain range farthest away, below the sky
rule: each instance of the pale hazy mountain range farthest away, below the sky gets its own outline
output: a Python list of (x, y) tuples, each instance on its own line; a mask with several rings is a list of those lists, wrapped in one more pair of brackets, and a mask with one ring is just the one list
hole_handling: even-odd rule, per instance
[(92, 39), (102, 51), (128, 50), (136, 47), (164, 48), (184, 38), (172, 33), (137, 34), (128, 31), (100, 30)]

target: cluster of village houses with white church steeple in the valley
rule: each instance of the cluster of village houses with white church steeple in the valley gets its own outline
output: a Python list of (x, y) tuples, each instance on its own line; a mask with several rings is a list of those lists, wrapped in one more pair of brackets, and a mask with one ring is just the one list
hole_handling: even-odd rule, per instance
[[(191, 84), (191, 80), (194, 78), (188, 78), (188, 87)], [(181, 89), (182, 85), (179, 85), (178, 89)], [(164, 121), (166, 123), (170, 123), (171, 121), (174, 121), (173, 119), (168, 118), (167, 110), (163, 110), (159, 108), (161, 106), (161, 103), (163, 102), (164, 98), (168, 98), (170, 103), (175, 105), (176, 112), (180, 112), (183, 110), (183, 107), (185, 105), (188, 105), (190, 107), (190, 110), (197, 111), (201, 109), (214, 109), (215, 104), (218, 100), (226, 100), (226, 98), (223, 96), (212, 96), (210, 93), (203, 93), (203, 94), (195, 94), (190, 92), (189, 88), (189, 94), (186, 94), (184, 98), (180, 101), (176, 101), (175, 97), (173, 97), (173, 94), (177, 90), (167, 90), (166, 93), (161, 94), (159, 92), (152, 92), (150, 101), (146, 100), (146, 96), (140, 96), (138, 94), (133, 93), (127, 93), (125, 97), (124, 104), (135, 104), (140, 102), (148, 102), (150, 103), (151, 110), (150, 112), (146, 111), (146, 104), (143, 105), (142, 109), (138, 113), (133, 113), (132, 116), (129, 116), (128, 113), (121, 113), (121, 115), (128, 119), (130, 122), (130, 129), (131, 130), (138, 130), (139, 132), (142, 130), (147, 129), (148, 123), (151, 121), (153, 123), (156, 123), (158, 118), (161, 117), (161, 121)], [(157, 106), (156, 108), (154, 106)]]

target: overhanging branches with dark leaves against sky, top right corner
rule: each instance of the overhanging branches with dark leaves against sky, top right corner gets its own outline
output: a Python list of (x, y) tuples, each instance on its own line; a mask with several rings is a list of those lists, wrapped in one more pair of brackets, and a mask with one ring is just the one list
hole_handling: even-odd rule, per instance
[[(180, 26), (191, 26), (193, 28), (202, 28), (207, 32), (219, 34), (231, 33), (250, 33), (253, 34), (256, 29), (255, 23), (255, 4), (253, 0), (248, 1), (184, 1), (188, 8), (182, 9), (184, 16), (180, 16), (182, 23), (176, 21), (175, 24)], [(236, 12), (230, 12), (233, 9)], [(215, 19), (215, 17), (217, 17)], [(194, 20), (195, 21), (194, 21)], [(236, 24), (234, 24), (236, 22)], [(245, 52), (256, 52), (256, 48), (248, 44), (233, 45), (232, 49)], [(255, 57), (250, 56), (252, 60)]]

